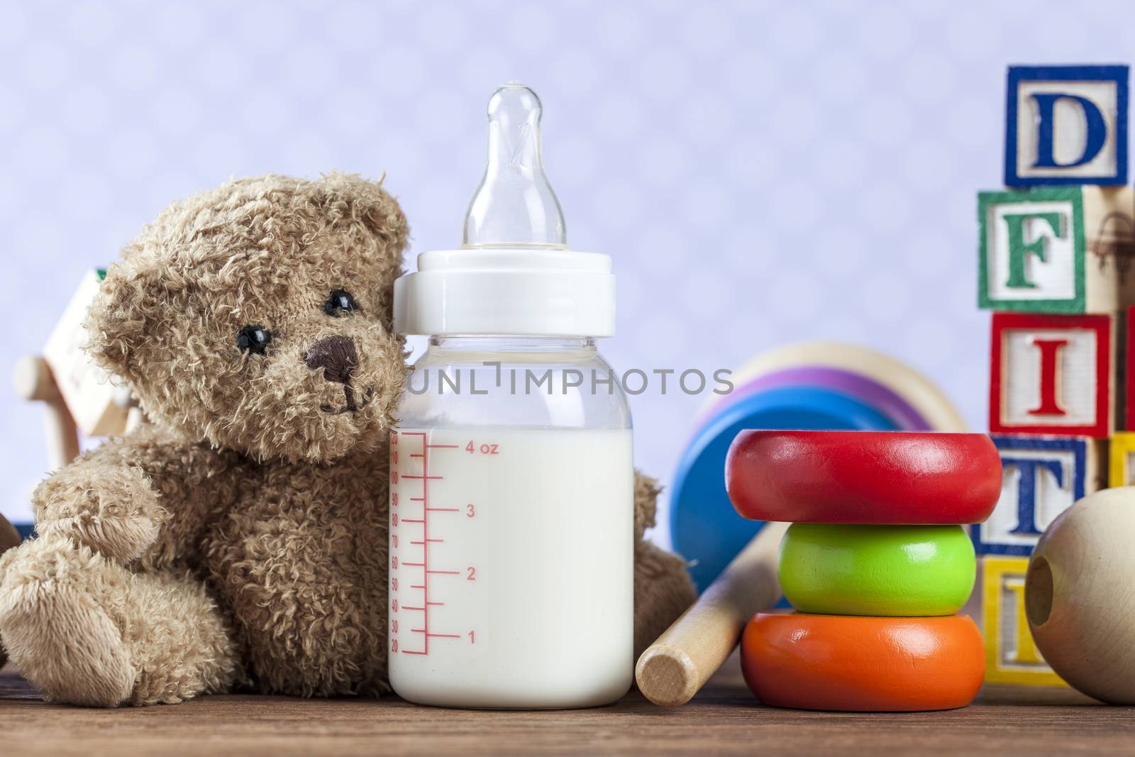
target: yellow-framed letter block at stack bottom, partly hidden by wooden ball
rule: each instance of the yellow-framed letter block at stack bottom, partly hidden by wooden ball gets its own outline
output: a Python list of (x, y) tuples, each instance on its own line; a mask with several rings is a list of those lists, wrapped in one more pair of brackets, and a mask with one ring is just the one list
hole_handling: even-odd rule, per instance
[(1041, 657), (1025, 617), (1027, 557), (983, 561), (982, 622), (989, 683), (1067, 685)]

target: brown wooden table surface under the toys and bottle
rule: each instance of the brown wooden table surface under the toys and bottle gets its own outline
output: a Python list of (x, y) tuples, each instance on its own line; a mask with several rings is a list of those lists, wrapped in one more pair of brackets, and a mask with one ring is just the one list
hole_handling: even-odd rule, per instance
[(758, 706), (735, 675), (663, 709), (637, 691), (566, 712), (415, 707), (400, 699), (203, 697), (174, 706), (44, 704), (0, 672), (0, 755), (1133, 755), (1135, 708), (1073, 691), (991, 689), (947, 713)]

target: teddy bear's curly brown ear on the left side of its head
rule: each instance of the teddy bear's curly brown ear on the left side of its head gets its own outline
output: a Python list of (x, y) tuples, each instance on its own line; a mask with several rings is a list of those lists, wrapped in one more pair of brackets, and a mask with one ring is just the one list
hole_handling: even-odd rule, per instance
[(135, 358), (148, 325), (159, 314), (154, 292), (158, 269), (138, 252), (127, 249), (124, 261), (107, 269), (86, 316), (87, 354), (109, 373), (132, 384), (137, 378)]

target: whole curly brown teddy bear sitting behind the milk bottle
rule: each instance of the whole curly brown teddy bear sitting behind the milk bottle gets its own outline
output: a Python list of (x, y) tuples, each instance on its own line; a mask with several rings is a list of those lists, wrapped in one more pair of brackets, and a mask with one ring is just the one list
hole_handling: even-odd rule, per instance
[[(33, 494), (37, 537), (0, 556), (0, 641), (52, 701), (250, 690), (389, 691), (388, 437), (406, 219), (333, 173), (227, 183), (174, 204), (107, 272), (87, 352), (151, 421)], [(642, 539), (636, 645), (693, 599)]]

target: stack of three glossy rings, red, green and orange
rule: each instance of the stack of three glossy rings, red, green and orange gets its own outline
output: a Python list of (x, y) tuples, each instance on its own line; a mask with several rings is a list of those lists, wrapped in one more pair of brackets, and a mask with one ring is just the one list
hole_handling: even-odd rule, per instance
[(955, 613), (976, 570), (962, 525), (983, 521), (1001, 490), (989, 437), (747, 430), (725, 486), (745, 518), (796, 521), (777, 565), (796, 612), (757, 613), (741, 640), (762, 703), (898, 712), (974, 698), (982, 636)]

